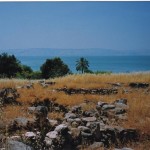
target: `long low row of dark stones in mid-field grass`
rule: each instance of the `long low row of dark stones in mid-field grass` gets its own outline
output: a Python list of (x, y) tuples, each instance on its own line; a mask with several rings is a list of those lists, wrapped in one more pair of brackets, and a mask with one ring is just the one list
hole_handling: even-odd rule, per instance
[(109, 94), (117, 94), (118, 90), (116, 88), (110, 88), (110, 89), (85, 89), (85, 88), (60, 88), (57, 89), (57, 91), (63, 91), (66, 94), (100, 94), (100, 95), (109, 95)]

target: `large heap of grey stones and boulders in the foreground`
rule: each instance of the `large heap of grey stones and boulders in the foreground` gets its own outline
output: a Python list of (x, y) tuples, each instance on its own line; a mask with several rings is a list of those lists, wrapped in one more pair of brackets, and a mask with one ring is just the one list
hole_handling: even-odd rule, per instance
[[(47, 117), (49, 107), (36, 106), (35, 120), (23, 141), (33, 149), (71, 150), (99, 147), (118, 148), (139, 138), (136, 129), (118, 126), (118, 121), (127, 119), (127, 99), (118, 99), (113, 103), (99, 101), (95, 109), (84, 111), (82, 105), (73, 106), (64, 111), (62, 120)], [(27, 126), (28, 121), (25, 122)], [(11, 142), (12, 143), (12, 142)], [(10, 148), (10, 150), (12, 150)]]

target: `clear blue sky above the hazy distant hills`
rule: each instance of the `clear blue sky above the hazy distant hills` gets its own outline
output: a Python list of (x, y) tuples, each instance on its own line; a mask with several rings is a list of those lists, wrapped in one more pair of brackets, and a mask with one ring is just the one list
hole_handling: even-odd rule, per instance
[(0, 49), (150, 49), (150, 2), (0, 2)]

